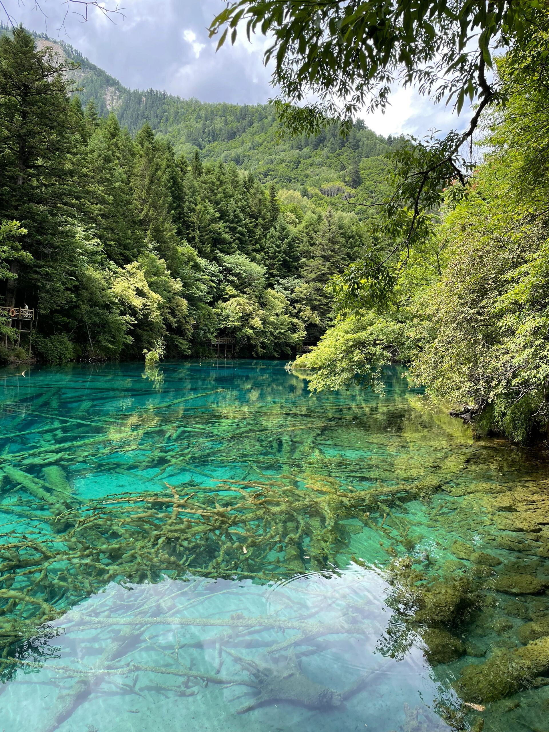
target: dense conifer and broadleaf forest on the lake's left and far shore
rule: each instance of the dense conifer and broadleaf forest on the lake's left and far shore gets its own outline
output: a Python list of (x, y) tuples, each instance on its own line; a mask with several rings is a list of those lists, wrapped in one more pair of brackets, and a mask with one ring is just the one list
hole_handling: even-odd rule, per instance
[(321, 193), (318, 207), (198, 148), (176, 154), (149, 124), (132, 137), (70, 97), (70, 72), (23, 29), (0, 39), (0, 279), (5, 306), (37, 310), (32, 352), (198, 355), (232, 337), (241, 355), (279, 356), (318, 339), (334, 321), (325, 285), (362, 252), (364, 223)]

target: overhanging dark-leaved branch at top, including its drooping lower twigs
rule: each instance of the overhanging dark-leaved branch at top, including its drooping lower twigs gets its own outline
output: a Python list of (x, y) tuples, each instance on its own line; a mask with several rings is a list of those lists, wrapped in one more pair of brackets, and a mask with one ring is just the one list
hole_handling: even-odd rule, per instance
[[(340, 282), (346, 309), (368, 299), (386, 304), (395, 284), (387, 262), (430, 239), (444, 188), (456, 177), (465, 184), (471, 171), (464, 143), (502, 93), (497, 78), (488, 81), (494, 51), (522, 49), (547, 18), (538, 0), (234, 0), (214, 18), (210, 37), (220, 34), (218, 48), (229, 30), (234, 43), (242, 25), (248, 38), (256, 31), (269, 38), (264, 61), (273, 62), (272, 83), (280, 89), (275, 108), (292, 135), (318, 135), (335, 124), (348, 135), (357, 113), (386, 107), (395, 82), (453, 102), (458, 113), (466, 100), (478, 102), (463, 132), (409, 138), (392, 154), (392, 190), (374, 204), (382, 212), (375, 233), (388, 252), (366, 258)], [(307, 102), (311, 92), (315, 102)], [(351, 185), (360, 178), (354, 161)]]

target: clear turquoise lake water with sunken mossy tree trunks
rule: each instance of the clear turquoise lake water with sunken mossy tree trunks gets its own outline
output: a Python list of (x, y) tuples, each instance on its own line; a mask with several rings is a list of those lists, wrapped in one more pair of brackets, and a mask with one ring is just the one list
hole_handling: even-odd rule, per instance
[(548, 619), (544, 455), (397, 371), (384, 395), (251, 361), (0, 386), (0, 732), (549, 730), (546, 671), (480, 709), (458, 683)]

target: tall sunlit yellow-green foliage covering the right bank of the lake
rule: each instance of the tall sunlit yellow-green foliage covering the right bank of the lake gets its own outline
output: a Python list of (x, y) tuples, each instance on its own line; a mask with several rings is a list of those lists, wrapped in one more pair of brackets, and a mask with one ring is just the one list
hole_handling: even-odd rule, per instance
[(520, 442), (548, 424), (547, 37), (533, 29), (499, 64), (506, 106), (490, 122), (493, 152), (441, 227), (451, 261), (433, 291), (434, 337), (414, 367), (433, 396), (485, 410), (482, 431)]

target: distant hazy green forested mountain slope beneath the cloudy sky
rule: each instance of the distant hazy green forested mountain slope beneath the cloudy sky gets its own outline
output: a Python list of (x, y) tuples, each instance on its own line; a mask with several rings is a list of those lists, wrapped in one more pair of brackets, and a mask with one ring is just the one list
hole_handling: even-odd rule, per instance
[[(9, 32), (5, 27), (3, 31)], [(38, 48), (49, 45), (78, 64), (68, 75), (83, 107), (93, 100), (98, 116), (114, 112), (132, 135), (149, 124), (155, 134), (171, 142), (176, 154), (190, 157), (198, 148), (202, 160), (236, 163), (263, 183), (297, 190), (308, 187), (312, 194), (324, 189), (329, 195), (337, 190), (334, 182), (349, 187), (362, 180), (376, 183), (384, 171), (381, 156), (397, 143), (368, 130), (361, 120), (345, 139), (333, 127), (315, 137), (278, 140), (279, 125), (269, 105), (212, 104), (154, 89), (127, 89), (71, 45), (44, 34), (32, 35)]]

